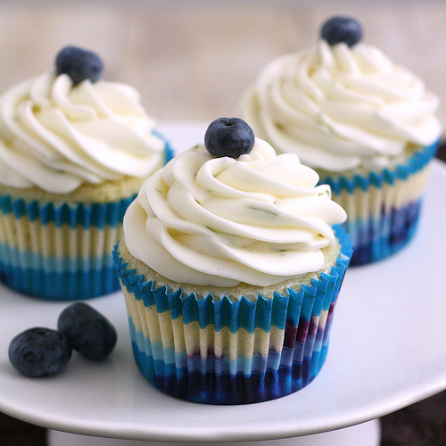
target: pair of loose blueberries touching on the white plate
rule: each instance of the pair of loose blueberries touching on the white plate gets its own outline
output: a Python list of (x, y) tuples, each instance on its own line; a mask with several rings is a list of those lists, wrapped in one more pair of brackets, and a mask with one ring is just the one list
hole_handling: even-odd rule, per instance
[(72, 303), (62, 311), (57, 330), (37, 326), (15, 336), (9, 345), (12, 366), (25, 376), (53, 376), (67, 366), (71, 353), (101, 360), (117, 341), (114, 326), (85, 302)]

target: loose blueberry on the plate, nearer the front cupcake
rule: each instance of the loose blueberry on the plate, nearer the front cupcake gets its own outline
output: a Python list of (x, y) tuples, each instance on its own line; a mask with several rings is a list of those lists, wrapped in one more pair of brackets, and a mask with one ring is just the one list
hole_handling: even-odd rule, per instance
[(75, 302), (62, 311), (59, 330), (73, 349), (88, 359), (104, 359), (116, 344), (116, 330), (103, 315), (85, 302)]

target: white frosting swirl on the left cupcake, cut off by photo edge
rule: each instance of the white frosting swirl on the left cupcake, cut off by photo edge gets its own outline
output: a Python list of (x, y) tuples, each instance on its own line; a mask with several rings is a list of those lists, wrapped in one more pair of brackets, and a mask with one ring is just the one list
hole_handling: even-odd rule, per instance
[(0, 98), (0, 184), (66, 194), (83, 183), (145, 177), (164, 142), (136, 89), (45, 73)]

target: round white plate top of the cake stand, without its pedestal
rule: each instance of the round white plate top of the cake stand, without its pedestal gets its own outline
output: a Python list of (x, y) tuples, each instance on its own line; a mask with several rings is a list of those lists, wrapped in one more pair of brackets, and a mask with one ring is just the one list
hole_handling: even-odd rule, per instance
[[(179, 150), (201, 142), (203, 124), (161, 130)], [(0, 410), (46, 427), (166, 442), (269, 440), (317, 434), (382, 417), (446, 388), (446, 167), (434, 161), (415, 239), (375, 265), (347, 271), (326, 364), (300, 392), (243, 406), (175, 400), (139, 374), (121, 293), (90, 303), (117, 327), (110, 358), (77, 353), (60, 376), (27, 378), (9, 363), (14, 335), (55, 327), (66, 303), (0, 288)]]

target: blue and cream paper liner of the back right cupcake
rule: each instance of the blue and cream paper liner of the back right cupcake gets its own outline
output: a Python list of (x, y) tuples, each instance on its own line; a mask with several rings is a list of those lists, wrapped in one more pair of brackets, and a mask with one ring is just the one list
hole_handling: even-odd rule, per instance
[(383, 260), (409, 243), (417, 229), (429, 162), (437, 147), (438, 141), (418, 150), (405, 165), (367, 177), (320, 179), (347, 212), (343, 226), (351, 237), (351, 266)]

